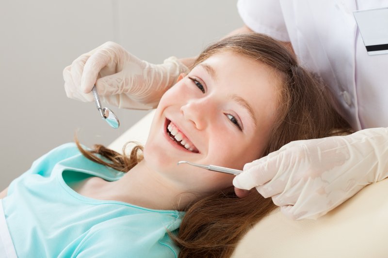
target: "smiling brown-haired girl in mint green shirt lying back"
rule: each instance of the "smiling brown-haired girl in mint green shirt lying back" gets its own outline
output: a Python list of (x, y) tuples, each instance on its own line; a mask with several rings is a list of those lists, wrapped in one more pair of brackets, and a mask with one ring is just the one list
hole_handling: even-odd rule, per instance
[(0, 195), (0, 246), (8, 257), (229, 257), (275, 205), (178, 161), (242, 169), (290, 141), (347, 131), (280, 43), (226, 38), (162, 96), (143, 154), (65, 144), (14, 180)]

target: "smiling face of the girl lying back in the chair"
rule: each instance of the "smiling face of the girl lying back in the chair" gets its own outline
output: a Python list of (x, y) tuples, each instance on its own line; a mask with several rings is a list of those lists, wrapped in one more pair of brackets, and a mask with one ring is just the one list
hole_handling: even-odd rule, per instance
[(276, 119), (280, 85), (272, 68), (239, 54), (199, 63), (162, 96), (144, 149), (147, 164), (185, 191), (232, 186), (233, 175), (177, 163), (242, 169), (258, 159)]

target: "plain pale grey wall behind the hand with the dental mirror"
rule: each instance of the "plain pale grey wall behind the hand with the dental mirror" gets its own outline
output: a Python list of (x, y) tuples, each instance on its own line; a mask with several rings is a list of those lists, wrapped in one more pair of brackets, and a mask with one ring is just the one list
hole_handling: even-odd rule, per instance
[(147, 113), (108, 106), (115, 130), (94, 103), (68, 99), (62, 70), (78, 56), (114, 41), (161, 63), (241, 26), (236, 0), (1, 0), (0, 191), (76, 130), (86, 146), (108, 145)]

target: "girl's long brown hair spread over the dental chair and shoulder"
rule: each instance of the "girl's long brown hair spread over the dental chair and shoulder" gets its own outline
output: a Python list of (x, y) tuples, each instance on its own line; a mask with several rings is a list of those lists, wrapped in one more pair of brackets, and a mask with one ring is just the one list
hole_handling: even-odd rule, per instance
[[(194, 66), (222, 52), (264, 63), (273, 68), (283, 82), (280, 90), (274, 89), (279, 92), (278, 114), (264, 156), (294, 140), (351, 132), (349, 124), (330, 105), (323, 85), (299, 66), (295, 56), (280, 42), (258, 33), (231, 36), (206, 48)], [(93, 151), (85, 151), (76, 142), (86, 157), (120, 171), (128, 171), (141, 159), (140, 147), (134, 148), (127, 157), (125, 153), (121, 155), (101, 145), (95, 145)], [(105, 156), (113, 165), (94, 153)], [(178, 236), (170, 236), (181, 249), (180, 258), (230, 257), (243, 234), (275, 207), (271, 198), (265, 199), (257, 191), (250, 191), (241, 199), (233, 188), (226, 189), (190, 204), (185, 209)]]

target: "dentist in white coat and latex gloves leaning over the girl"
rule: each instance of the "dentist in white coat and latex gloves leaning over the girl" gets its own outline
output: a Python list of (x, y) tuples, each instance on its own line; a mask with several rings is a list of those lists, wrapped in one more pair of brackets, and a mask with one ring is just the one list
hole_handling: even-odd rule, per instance
[[(388, 177), (388, 9), (370, 13), (382, 28), (383, 43), (366, 44), (369, 52), (364, 42), (371, 36), (368, 29), (360, 32), (365, 26), (358, 27), (353, 14), (388, 8), (388, 0), (239, 0), (237, 6), (245, 26), (231, 34), (265, 33), (292, 47), (332, 91), (339, 113), (357, 132), (291, 142), (246, 164), (233, 181), (236, 193), (243, 197), (239, 189), (256, 188), (292, 219), (317, 218)], [(150, 64), (108, 42), (65, 68), (65, 91), (93, 101), (96, 83), (102, 101), (152, 108), (193, 61), (170, 57)]]

